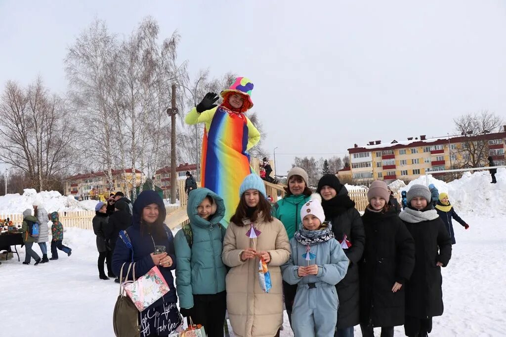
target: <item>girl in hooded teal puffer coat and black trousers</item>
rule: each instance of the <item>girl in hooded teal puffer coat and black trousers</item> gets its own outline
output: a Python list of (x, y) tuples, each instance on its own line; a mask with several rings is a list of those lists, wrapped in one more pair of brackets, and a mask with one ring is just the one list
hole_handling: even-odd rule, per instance
[(221, 337), (227, 308), (227, 269), (221, 258), (225, 228), (220, 224), (225, 204), (213, 191), (198, 188), (190, 193), (186, 209), (190, 224), (174, 239), (180, 312), (202, 324), (207, 336)]

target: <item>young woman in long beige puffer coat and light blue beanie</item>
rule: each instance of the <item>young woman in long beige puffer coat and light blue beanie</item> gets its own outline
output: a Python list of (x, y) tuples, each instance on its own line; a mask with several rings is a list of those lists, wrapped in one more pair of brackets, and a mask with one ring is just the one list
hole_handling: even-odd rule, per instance
[[(283, 325), (280, 266), (290, 257), (290, 244), (283, 224), (271, 215), (264, 182), (257, 174), (244, 178), (239, 194), (222, 253), (223, 263), (231, 267), (226, 277), (230, 324), (239, 337), (279, 336)], [(260, 258), (271, 276), (268, 293), (260, 285)]]

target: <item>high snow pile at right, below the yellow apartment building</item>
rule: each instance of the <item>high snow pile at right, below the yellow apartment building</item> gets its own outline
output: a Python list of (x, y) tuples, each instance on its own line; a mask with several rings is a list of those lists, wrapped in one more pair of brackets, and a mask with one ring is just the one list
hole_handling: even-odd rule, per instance
[[(488, 171), (464, 172), (460, 179), (446, 183), (429, 175), (429, 184), (434, 184), (440, 193), (448, 193), (450, 202), (457, 213), (503, 217), (506, 215), (504, 207), (504, 202), (506, 202), (506, 169), (497, 169), (495, 177), (497, 183), (491, 184), (492, 179)], [(420, 176), (411, 181), (406, 187), (401, 188), (401, 191), (409, 190), (414, 184), (427, 186), (426, 176)]]

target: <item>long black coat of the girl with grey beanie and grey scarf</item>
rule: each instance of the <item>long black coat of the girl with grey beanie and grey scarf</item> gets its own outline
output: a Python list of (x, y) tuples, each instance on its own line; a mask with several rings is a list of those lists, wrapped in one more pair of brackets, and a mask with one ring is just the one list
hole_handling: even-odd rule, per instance
[[(429, 212), (429, 211), (427, 211)], [(406, 282), (406, 315), (428, 318), (443, 314), (441, 267), (451, 258), (451, 238), (443, 220), (437, 217), (418, 223), (404, 221), (414, 239), (415, 265), (411, 278)]]

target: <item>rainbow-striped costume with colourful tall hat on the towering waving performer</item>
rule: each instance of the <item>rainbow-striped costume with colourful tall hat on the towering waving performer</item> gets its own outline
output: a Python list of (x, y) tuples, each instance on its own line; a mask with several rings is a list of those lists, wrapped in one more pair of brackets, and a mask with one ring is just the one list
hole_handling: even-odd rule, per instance
[[(185, 119), (189, 125), (205, 123), (201, 185), (223, 198), (225, 225), (239, 204), (242, 180), (253, 172), (247, 151), (260, 141), (260, 132), (244, 114), (253, 106), (252, 89), (253, 83), (249, 79), (238, 77), (229, 89), (221, 92), (224, 104), (200, 114), (193, 108)], [(238, 112), (227, 108), (226, 100), (231, 93), (240, 93), (245, 98)]]

